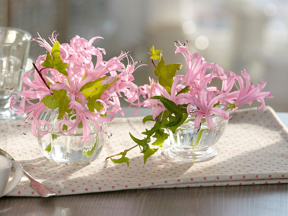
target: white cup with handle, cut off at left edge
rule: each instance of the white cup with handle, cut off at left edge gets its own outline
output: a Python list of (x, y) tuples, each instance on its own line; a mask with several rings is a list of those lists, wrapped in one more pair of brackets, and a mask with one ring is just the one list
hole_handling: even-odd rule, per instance
[[(12, 167), (16, 168), (16, 172), (13, 179), (8, 182)], [(0, 155), (0, 197), (5, 196), (18, 185), (22, 175), (23, 170), (19, 163)]]

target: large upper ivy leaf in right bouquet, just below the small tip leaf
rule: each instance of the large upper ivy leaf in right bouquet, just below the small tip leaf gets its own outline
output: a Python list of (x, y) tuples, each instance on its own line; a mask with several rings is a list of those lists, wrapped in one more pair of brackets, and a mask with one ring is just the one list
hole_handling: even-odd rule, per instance
[(172, 63), (165, 65), (162, 54), (160, 54), (160, 58), (160, 61), (154, 69), (154, 74), (156, 77), (159, 77), (158, 82), (160, 85), (171, 88), (173, 77), (175, 76), (176, 72), (182, 68), (182, 64)]

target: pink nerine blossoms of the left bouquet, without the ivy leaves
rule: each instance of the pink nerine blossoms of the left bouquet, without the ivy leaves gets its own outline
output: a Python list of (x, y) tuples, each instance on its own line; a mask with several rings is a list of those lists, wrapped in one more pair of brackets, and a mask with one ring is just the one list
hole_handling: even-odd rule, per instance
[[(38, 34), (39, 35), (39, 34)], [(49, 37), (50, 42), (54, 45), (57, 42), (57, 35), (55, 32)], [(89, 41), (79, 36), (75, 36), (71, 39), (70, 44), (60, 44), (60, 57), (63, 63), (68, 63), (67, 73), (68, 76), (59, 73), (53, 68), (44, 68), (41, 64), (46, 60), (47, 55), (42, 55), (37, 58), (35, 65), (41, 72), (46, 83), (52, 83), (48, 88), (42, 81), (41, 77), (36, 70), (32, 70), (29, 73), (24, 73), (21, 80), (24, 82), (23, 90), (20, 93), (14, 92), (21, 96), (18, 100), (16, 95), (11, 98), (10, 108), (17, 114), (29, 113), (26, 118), (19, 125), (29, 122), (32, 119), (31, 132), (35, 137), (43, 137), (49, 131), (51, 123), (43, 120), (39, 120), (39, 115), (47, 107), (41, 102), (41, 100), (47, 96), (52, 95), (52, 90), (64, 89), (67, 90), (69, 96), (69, 109), (74, 109), (76, 113), (76, 120), (70, 121), (67, 118), (67, 114), (59, 123), (59, 131), (64, 134), (69, 134), (75, 131), (77, 125), (82, 121), (83, 124), (83, 138), (82, 141), (88, 142), (90, 139), (90, 129), (88, 125), (88, 119), (96, 125), (99, 131), (102, 129), (99, 122), (110, 122), (113, 120), (117, 112), (120, 112), (124, 116), (124, 112), (120, 107), (120, 101), (118, 97), (123, 97), (127, 102), (133, 102), (138, 98), (138, 86), (132, 83), (134, 77), (132, 73), (138, 68), (130, 57), (130, 51), (122, 52), (120, 56), (111, 58), (108, 61), (103, 61), (103, 54), (105, 55), (105, 49), (94, 47), (92, 43), (96, 39), (103, 39), (102, 37), (93, 37)], [(39, 37), (31, 39), (31, 41), (37, 41), (41, 46), (47, 49), (51, 53), (52, 46), (43, 38)], [(96, 56), (96, 65), (92, 62), (92, 56)], [(125, 66), (121, 60), (127, 59), (128, 64)], [(50, 73), (48, 76), (47, 73)], [(101, 98), (97, 101), (101, 103), (103, 108), (98, 112), (90, 112), (85, 104), (86, 98), (83, 93), (80, 92), (81, 87), (86, 83), (95, 81), (101, 77), (109, 76), (105, 80), (101, 81), (101, 85), (107, 83), (113, 83), (107, 88), (101, 95)], [(33, 76), (33, 79), (29, 77)], [(117, 78), (117, 79), (116, 79)], [(35, 103), (35, 100), (37, 101)], [(19, 105), (16, 105), (16, 103)], [(27, 106), (27, 104), (29, 104)], [(49, 110), (47, 110), (49, 111)], [(100, 114), (107, 114), (101, 116)], [(66, 118), (65, 118), (66, 117)], [(68, 131), (62, 130), (62, 125), (68, 126)], [(28, 124), (27, 124), (28, 125)], [(46, 131), (41, 131), (38, 126), (47, 125)], [(40, 135), (39, 135), (40, 134)]]

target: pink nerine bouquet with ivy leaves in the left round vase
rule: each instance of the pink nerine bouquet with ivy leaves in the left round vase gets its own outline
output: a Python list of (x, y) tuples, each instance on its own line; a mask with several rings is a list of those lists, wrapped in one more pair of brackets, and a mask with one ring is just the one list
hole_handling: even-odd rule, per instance
[[(43, 111), (58, 109), (59, 131), (70, 134), (81, 125), (82, 141), (88, 142), (88, 121), (96, 126), (98, 132), (107, 133), (100, 123), (111, 122), (117, 112), (124, 116), (118, 97), (124, 97), (130, 103), (137, 100), (138, 86), (132, 82), (132, 73), (139, 62), (134, 62), (127, 50), (118, 57), (103, 61), (105, 49), (92, 46), (94, 40), (102, 37), (87, 41), (75, 36), (70, 44), (60, 44), (57, 35), (53, 32), (49, 37), (52, 45), (40, 35), (31, 39), (47, 49), (46, 55), (39, 56), (33, 63), (35, 70), (24, 73), (20, 93), (10, 89), (21, 97), (19, 100), (14, 95), (10, 108), (17, 114), (28, 113), (18, 127), (31, 120), (31, 132), (35, 137), (43, 137), (52, 126), (50, 122), (39, 119), (39, 115)], [(95, 65), (92, 56), (97, 58)], [(127, 65), (122, 63), (123, 59), (127, 60)], [(70, 118), (72, 115), (73, 119)], [(47, 130), (39, 129), (43, 125)]]

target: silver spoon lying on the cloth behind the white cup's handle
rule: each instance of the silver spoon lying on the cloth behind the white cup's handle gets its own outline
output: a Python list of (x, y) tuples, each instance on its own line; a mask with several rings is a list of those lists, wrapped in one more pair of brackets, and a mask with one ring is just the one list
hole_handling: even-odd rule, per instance
[[(9, 158), (11, 160), (14, 160), (14, 158), (12, 158), (12, 156), (10, 154), (5, 152), (1, 148), (0, 148), (0, 154), (4, 155), (5, 157), (7, 157), (7, 158)], [(33, 179), (31, 177), (31, 175), (29, 175), (29, 173), (27, 173), (24, 169), (23, 169), (23, 173), (29, 178), (32, 188), (34, 188), (34, 190), (38, 194), (40, 194), (42, 197), (49, 197), (49, 196), (55, 196), (56, 195), (49, 188), (47, 188), (45, 185), (43, 185), (39, 181), (36, 181), (35, 179)]]

